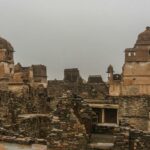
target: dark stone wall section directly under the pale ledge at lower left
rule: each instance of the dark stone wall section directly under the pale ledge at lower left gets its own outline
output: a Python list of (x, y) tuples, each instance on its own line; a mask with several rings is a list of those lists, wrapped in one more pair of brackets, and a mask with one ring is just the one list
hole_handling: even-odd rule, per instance
[(46, 139), (51, 132), (51, 116), (48, 114), (21, 115), (17, 123), (17, 132), (24, 137)]

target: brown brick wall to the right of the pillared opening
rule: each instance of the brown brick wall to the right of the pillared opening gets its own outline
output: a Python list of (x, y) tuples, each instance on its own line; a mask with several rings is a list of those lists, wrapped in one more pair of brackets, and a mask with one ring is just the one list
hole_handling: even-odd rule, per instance
[(150, 97), (119, 97), (119, 119), (134, 128), (148, 130)]

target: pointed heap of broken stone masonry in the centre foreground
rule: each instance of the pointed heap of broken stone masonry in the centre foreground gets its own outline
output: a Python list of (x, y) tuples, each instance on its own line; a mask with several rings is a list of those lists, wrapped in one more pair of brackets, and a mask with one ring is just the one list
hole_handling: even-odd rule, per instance
[(86, 150), (87, 134), (75, 116), (71, 101), (64, 95), (53, 112), (51, 133), (48, 135), (50, 150)]

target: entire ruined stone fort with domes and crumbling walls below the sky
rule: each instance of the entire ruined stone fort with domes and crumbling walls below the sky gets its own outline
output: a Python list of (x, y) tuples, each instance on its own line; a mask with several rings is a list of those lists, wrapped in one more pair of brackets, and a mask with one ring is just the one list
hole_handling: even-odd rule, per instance
[(46, 66), (14, 63), (0, 38), (0, 141), (41, 150), (150, 150), (150, 27), (125, 49), (121, 74), (108, 81), (78, 68), (48, 80)]

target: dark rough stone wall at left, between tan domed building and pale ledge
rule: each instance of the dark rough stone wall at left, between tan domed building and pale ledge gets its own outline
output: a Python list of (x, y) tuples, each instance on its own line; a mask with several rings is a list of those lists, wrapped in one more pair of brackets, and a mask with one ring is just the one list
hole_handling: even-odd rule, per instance
[(16, 95), (0, 91), (0, 120), (3, 125), (14, 124), (20, 114), (49, 113), (50, 100), (45, 89), (30, 89)]

